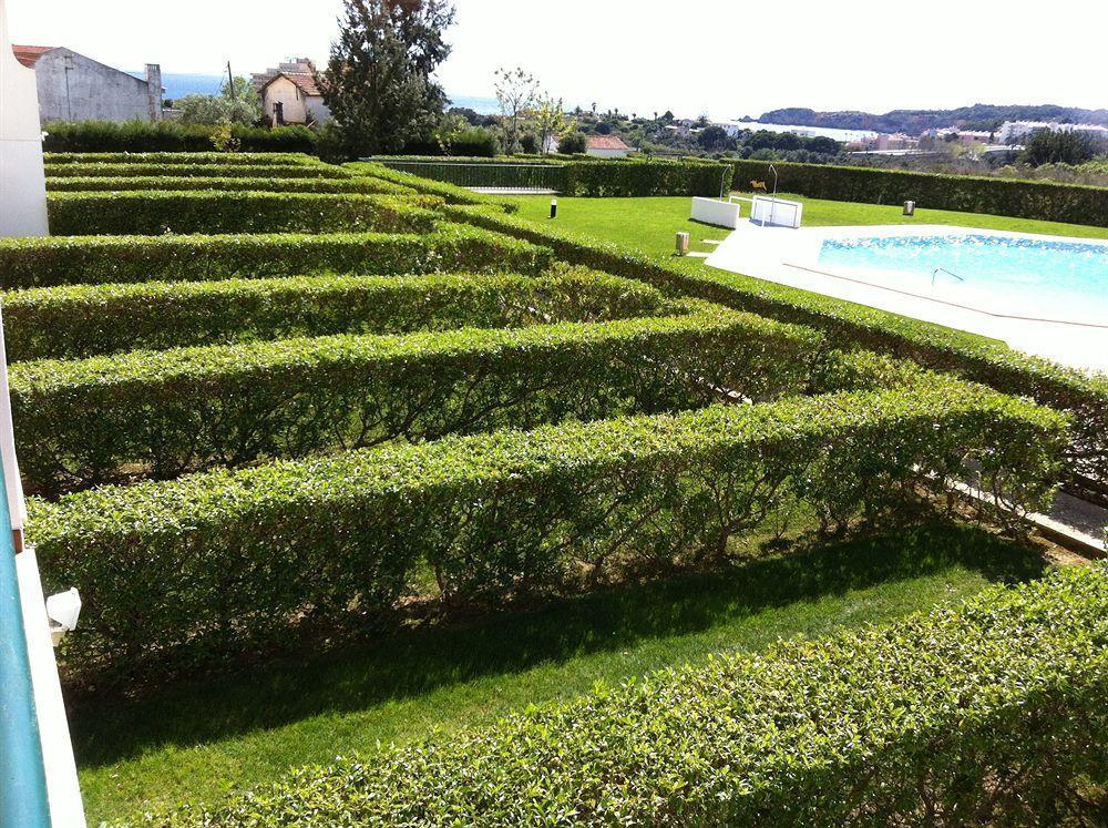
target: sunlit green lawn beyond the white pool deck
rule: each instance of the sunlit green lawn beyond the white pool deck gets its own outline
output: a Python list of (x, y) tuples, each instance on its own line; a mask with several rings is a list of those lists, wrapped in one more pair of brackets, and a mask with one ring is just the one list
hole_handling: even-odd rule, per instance
[[(1036, 222), (981, 213), (954, 213), (945, 209), (916, 209), (906, 217), (897, 206), (830, 202), (782, 193), (781, 197), (804, 203), (804, 226), (861, 224), (948, 224), (985, 229), (1045, 233), (1083, 238), (1108, 238), (1108, 228), (1058, 222)], [(512, 198), (520, 204), (524, 218), (550, 223), (548, 195)], [(749, 205), (743, 205), (747, 207)], [(709, 251), (707, 238), (726, 238), (729, 231), (689, 221), (690, 200), (661, 198), (558, 198), (560, 227), (595, 238), (625, 245), (645, 253), (671, 253), (677, 231), (691, 233), (693, 249)], [(748, 214), (743, 209), (743, 214)]]

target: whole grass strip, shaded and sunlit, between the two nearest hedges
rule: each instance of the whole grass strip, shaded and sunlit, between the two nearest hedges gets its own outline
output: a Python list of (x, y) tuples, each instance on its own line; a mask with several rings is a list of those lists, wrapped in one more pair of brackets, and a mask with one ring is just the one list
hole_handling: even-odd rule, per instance
[(85, 804), (95, 824), (211, 803), (291, 767), (478, 726), (597, 682), (886, 623), (1042, 571), (1033, 549), (936, 523), (748, 555), (724, 572), (410, 631), (142, 699), (85, 701), (71, 715)]

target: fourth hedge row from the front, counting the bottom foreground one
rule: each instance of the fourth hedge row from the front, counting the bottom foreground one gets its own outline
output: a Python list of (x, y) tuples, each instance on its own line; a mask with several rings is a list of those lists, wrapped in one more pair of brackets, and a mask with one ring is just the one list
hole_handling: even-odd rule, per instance
[(642, 282), (557, 276), (301, 276), (19, 290), (2, 297), (8, 359), (80, 359), (141, 348), (329, 334), (403, 334), (650, 316)]

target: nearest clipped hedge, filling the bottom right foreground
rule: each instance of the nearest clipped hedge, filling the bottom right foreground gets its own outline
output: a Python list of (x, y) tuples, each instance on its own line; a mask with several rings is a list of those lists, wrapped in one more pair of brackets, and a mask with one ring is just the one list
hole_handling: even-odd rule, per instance
[(148, 822), (1099, 824), (1108, 572), (726, 654)]

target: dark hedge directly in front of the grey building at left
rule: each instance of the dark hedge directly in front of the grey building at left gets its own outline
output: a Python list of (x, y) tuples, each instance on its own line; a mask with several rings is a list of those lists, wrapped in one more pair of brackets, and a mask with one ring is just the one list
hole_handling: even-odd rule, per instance
[[(206, 152), (219, 126), (186, 125), (176, 121), (51, 122), (43, 147), (51, 153), (69, 152)], [(246, 152), (314, 152), (315, 133), (304, 126), (232, 126), (230, 135)]]

